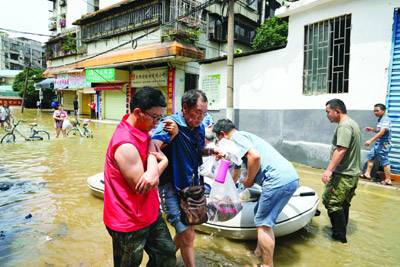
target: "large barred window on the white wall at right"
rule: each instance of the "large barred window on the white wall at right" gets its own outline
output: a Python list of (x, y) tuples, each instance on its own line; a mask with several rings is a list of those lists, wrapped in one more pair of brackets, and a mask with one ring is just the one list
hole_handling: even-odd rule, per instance
[(349, 92), (351, 15), (304, 28), (303, 94)]

